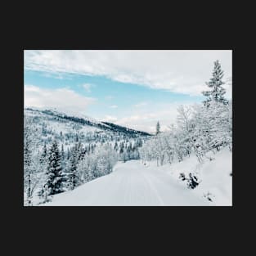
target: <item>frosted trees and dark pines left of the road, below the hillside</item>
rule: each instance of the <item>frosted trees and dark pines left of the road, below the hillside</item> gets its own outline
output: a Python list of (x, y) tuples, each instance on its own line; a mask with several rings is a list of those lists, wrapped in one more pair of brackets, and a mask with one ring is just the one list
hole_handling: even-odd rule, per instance
[[(96, 135), (98, 140), (94, 143), (82, 143), (83, 137), (76, 134), (76, 139), (69, 141), (74, 142), (73, 146), (71, 143), (64, 149), (58, 136), (51, 141), (42, 141), (42, 132), (29, 116), (25, 116), (24, 135), (26, 205), (33, 204), (35, 192), (42, 202), (46, 202), (49, 195), (74, 190), (85, 182), (111, 173), (118, 160), (139, 159), (138, 148), (143, 143), (141, 137), (131, 141), (128, 137), (104, 134)], [(94, 137), (93, 133), (91, 135)], [(107, 137), (113, 141), (105, 140)], [(42, 150), (38, 150), (42, 142)]]

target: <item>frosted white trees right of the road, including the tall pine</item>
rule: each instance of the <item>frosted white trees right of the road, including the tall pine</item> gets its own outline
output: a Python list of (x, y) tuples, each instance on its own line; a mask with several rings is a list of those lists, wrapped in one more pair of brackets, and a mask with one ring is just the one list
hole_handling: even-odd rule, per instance
[(214, 62), (213, 76), (207, 82), (208, 91), (202, 92), (205, 100), (194, 106), (177, 109), (177, 125), (169, 132), (160, 132), (159, 122), (156, 135), (140, 149), (141, 159), (156, 160), (158, 165), (171, 164), (174, 159), (182, 161), (194, 153), (199, 162), (207, 153), (216, 153), (224, 146), (232, 147), (232, 102), (224, 95), (223, 71), (219, 61)]

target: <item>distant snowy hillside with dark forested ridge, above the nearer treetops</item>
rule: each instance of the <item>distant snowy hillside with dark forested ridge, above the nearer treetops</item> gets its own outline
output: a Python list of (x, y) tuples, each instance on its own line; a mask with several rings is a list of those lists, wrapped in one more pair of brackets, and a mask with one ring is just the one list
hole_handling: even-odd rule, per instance
[(84, 146), (110, 144), (117, 146), (124, 142), (132, 145), (150, 137), (147, 132), (133, 130), (116, 124), (101, 122), (81, 115), (67, 115), (56, 110), (38, 110), (25, 108), (25, 121), (29, 122), (30, 132), (34, 136), (35, 147), (42, 150), (43, 145), (50, 146), (56, 140), (59, 146), (68, 150), (75, 143)]

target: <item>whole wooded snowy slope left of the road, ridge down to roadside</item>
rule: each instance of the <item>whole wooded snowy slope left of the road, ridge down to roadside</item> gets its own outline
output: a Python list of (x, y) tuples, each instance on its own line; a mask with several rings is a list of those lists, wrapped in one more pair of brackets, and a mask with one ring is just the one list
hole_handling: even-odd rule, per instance
[(30, 204), (28, 200), (36, 204), (44, 193), (52, 161), (61, 170), (61, 191), (69, 191), (112, 172), (118, 160), (139, 159), (138, 150), (150, 137), (146, 132), (56, 110), (27, 108), (24, 114), (25, 204)]

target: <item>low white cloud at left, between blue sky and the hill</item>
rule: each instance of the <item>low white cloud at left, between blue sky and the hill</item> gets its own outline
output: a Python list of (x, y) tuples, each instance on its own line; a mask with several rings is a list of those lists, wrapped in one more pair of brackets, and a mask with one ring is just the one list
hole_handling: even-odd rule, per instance
[(83, 97), (68, 88), (44, 89), (34, 85), (25, 85), (25, 106), (56, 108), (65, 112), (84, 114), (89, 105), (96, 101), (92, 97)]

